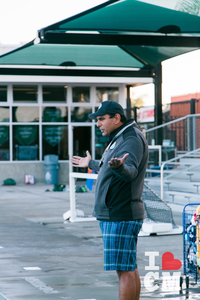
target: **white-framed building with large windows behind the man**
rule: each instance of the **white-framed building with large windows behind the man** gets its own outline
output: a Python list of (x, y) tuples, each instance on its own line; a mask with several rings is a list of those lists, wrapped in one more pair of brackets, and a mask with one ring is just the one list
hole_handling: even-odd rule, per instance
[[(4, 46), (4, 52), (10, 51), (10, 46), (5, 50)], [(45, 65), (39, 67), (51, 69)], [(31, 174), (36, 182), (43, 183), (43, 160), (49, 154), (58, 155), (59, 183), (68, 182), (72, 171), (69, 158), (84, 156), (89, 150), (92, 158), (98, 160), (107, 143), (88, 114), (95, 112), (105, 100), (117, 101), (126, 109), (127, 84), (152, 80), (0, 75), (0, 182), (11, 177), (16, 183), (23, 183), (25, 175)]]

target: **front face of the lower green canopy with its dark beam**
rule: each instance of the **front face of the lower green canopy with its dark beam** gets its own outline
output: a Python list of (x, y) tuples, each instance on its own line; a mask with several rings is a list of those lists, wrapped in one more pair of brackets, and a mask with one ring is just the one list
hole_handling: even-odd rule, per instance
[(151, 68), (118, 46), (32, 41), (0, 56), (1, 75), (152, 77), (151, 73)]

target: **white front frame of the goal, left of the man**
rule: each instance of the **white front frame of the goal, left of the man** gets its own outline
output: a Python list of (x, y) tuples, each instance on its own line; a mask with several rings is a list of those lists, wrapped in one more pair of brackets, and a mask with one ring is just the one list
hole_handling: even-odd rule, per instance
[(63, 214), (65, 220), (69, 219), (70, 222), (86, 222), (96, 221), (95, 217), (78, 217), (76, 212), (76, 192), (75, 192), (75, 178), (83, 179), (97, 179), (98, 174), (89, 173), (69, 173), (69, 184), (70, 184), (70, 211)]

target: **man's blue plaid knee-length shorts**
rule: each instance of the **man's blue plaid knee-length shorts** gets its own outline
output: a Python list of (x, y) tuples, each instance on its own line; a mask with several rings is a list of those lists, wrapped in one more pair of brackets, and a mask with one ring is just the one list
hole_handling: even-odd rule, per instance
[(104, 271), (134, 271), (137, 268), (136, 245), (143, 220), (100, 221), (103, 237)]

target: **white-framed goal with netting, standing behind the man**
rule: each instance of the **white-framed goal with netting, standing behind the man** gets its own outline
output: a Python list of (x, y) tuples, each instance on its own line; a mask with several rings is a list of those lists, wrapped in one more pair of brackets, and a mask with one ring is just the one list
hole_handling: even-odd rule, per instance
[[(96, 220), (92, 216), (94, 208), (94, 191), (97, 174), (70, 173), (70, 211), (63, 214), (64, 220), (82, 222)], [(172, 210), (146, 183), (142, 199), (145, 205), (144, 223), (171, 223), (178, 228), (173, 220)]]

